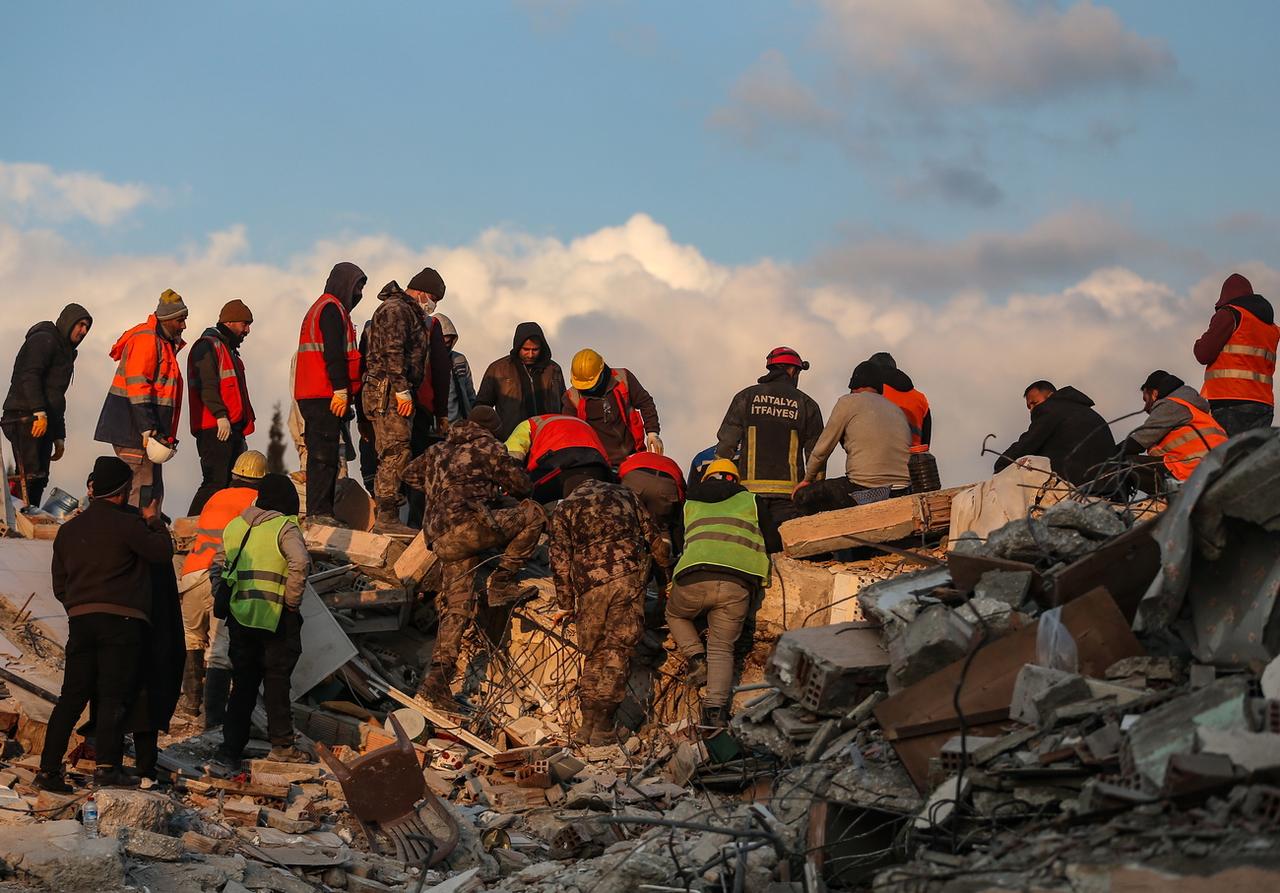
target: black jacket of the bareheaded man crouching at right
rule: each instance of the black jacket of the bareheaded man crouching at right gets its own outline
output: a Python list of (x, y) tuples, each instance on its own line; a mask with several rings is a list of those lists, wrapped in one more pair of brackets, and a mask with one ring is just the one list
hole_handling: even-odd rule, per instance
[(1093, 400), (1075, 388), (1059, 388), (1032, 409), (1030, 427), (996, 459), (996, 471), (1024, 455), (1043, 455), (1056, 475), (1083, 486), (1115, 453), (1111, 429)]

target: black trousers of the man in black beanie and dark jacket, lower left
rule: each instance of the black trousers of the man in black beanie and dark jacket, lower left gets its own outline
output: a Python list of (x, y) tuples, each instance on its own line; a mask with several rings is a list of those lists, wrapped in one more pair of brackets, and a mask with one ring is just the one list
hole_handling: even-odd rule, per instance
[(119, 766), (124, 754), (124, 711), (133, 701), (146, 620), (118, 614), (83, 614), (67, 620), (63, 692), (49, 718), (40, 769), (60, 773), (76, 720), (93, 700), (97, 765)]

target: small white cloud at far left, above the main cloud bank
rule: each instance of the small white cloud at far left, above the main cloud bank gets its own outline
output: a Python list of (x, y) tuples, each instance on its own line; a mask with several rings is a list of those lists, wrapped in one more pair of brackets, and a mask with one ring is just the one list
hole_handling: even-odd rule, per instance
[(0, 220), (60, 223), (82, 217), (105, 226), (151, 201), (138, 183), (111, 183), (86, 171), (58, 171), (46, 164), (0, 161)]

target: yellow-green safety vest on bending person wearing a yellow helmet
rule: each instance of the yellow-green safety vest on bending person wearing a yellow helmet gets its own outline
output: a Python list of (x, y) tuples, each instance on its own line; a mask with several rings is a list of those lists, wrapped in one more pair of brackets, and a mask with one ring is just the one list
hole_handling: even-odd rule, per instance
[(685, 554), (675, 576), (698, 565), (769, 578), (769, 553), (755, 513), (755, 494), (744, 491), (719, 503), (685, 503)]

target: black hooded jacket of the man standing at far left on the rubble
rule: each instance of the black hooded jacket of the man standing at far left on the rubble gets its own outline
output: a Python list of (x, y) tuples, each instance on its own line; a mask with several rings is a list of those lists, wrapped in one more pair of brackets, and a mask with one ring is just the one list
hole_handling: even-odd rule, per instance
[(72, 330), (81, 320), (93, 324), (93, 317), (79, 304), (67, 304), (56, 322), (37, 322), (13, 362), (9, 394), (4, 400), (5, 418), (44, 412), (49, 416), (49, 434), (54, 440), (67, 438), (67, 389), (72, 384), (77, 347)]

